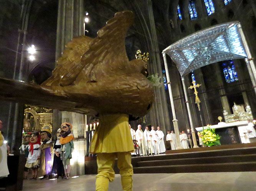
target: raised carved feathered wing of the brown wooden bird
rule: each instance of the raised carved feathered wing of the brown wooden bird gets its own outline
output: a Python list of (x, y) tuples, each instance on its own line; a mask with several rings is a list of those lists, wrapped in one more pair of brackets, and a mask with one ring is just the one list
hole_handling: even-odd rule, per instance
[(133, 20), (134, 14), (131, 11), (118, 12), (97, 32), (96, 38), (74, 38), (66, 44), (53, 76), (42, 85), (69, 86), (81, 80), (86, 83), (90, 81), (90, 73), (97, 64), (101, 64), (102, 70), (105, 70), (107, 67), (118, 68), (128, 63), (125, 37)]

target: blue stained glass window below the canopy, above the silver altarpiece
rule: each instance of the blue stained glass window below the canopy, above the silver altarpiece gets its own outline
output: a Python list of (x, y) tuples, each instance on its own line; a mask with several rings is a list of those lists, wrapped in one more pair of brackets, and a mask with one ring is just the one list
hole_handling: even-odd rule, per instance
[(234, 81), (238, 81), (235, 65), (233, 60), (226, 60), (222, 64), (223, 66), (223, 73), (227, 83), (231, 83)]

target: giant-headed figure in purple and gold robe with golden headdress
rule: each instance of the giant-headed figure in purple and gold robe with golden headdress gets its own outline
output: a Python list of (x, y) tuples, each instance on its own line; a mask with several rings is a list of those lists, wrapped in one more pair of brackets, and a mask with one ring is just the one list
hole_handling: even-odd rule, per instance
[(53, 154), (53, 143), (51, 141), (51, 128), (49, 126), (44, 126), (40, 132), (41, 141), (43, 142), (40, 146), (41, 150), (41, 175), (43, 178), (51, 178), (51, 170), (53, 168), (52, 154)]

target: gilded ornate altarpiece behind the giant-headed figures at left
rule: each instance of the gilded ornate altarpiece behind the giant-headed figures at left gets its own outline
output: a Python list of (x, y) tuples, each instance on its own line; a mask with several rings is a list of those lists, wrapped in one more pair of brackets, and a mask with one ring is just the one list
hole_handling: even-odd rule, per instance
[(49, 108), (25, 105), (23, 131), (41, 131), (44, 126), (49, 126), (52, 131), (53, 111)]

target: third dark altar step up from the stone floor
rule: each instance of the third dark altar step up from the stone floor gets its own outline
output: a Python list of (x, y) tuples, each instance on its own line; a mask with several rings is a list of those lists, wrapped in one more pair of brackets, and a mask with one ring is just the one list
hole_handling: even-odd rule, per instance
[(186, 158), (215, 157), (215, 156), (244, 155), (244, 154), (256, 154), (256, 147), (200, 151), (200, 152), (185, 152), (185, 153), (154, 155), (154, 156), (135, 157), (135, 158), (139, 158), (140, 161), (149, 161), (149, 160), (186, 159)]

